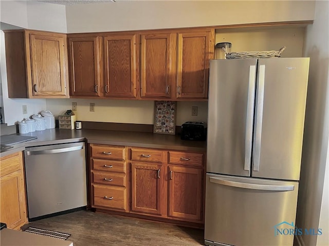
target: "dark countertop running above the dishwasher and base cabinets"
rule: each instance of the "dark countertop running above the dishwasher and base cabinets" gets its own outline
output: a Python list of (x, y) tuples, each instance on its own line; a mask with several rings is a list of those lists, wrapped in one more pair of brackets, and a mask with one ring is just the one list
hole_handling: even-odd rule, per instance
[(206, 141), (181, 140), (180, 136), (178, 135), (154, 134), (149, 132), (106, 131), (90, 129), (66, 130), (54, 128), (21, 135), (36, 136), (38, 138), (14, 145), (14, 148), (2, 152), (1, 156), (6, 156), (17, 151), (22, 151), (25, 147), (64, 144), (68, 142), (85, 140), (89, 144), (121, 145), (193, 152), (206, 151)]

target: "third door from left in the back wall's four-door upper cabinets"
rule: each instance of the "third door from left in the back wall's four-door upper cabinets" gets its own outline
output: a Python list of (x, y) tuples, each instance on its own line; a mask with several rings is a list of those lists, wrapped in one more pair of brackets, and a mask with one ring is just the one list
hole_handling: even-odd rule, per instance
[(140, 87), (142, 98), (171, 98), (175, 79), (176, 34), (142, 34)]

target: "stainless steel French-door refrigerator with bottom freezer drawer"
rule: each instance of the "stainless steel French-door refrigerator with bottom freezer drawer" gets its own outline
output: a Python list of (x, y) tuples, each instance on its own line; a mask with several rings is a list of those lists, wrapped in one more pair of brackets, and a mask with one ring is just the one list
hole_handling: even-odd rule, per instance
[(206, 245), (293, 245), (308, 66), (210, 61)]

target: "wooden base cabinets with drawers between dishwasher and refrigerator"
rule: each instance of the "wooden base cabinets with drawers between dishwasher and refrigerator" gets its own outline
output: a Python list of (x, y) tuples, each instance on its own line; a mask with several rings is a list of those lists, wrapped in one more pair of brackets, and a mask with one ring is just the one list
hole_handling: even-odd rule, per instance
[(89, 144), (96, 211), (204, 227), (205, 153)]

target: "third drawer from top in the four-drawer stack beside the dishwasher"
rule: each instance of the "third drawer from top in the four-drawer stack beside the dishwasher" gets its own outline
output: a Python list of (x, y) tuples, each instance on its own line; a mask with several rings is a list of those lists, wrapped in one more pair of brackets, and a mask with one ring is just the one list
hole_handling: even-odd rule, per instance
[(125, 174), (111, 172), (93, 172), (94, 183), (110, 186), (126, 186)]

